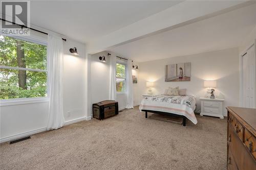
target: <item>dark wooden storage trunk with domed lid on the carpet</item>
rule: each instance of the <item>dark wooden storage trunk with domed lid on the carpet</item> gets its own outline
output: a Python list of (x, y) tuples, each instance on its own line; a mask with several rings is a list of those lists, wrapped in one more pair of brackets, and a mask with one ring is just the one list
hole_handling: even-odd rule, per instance
[(102, 101), (93, 104), (93, 117), (97, 119), (104, 119), (118, 114), (118, 102), (116, 101)]

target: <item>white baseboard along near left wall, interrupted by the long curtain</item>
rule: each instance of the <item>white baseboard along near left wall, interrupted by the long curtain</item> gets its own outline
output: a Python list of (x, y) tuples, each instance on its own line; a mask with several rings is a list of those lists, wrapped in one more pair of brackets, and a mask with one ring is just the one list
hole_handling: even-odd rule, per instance
[[(81, 117), (81, 118), (69, 120), (69, 121), (65, 122), (64, 126), (67, 126), (67, 125), (70, 125), (70, 124), (74, 124), (74, 123), (77, 123), (77, 122), (81, 122), (83, 120), (91, 120), (91, 119), (92, 119), (92, 116), (84, 116), (84, 117)], [(36, 130), (32, 130), (32, 131), (29, 131), (29, 132), (20, 133), (20, 134), (17, 134), (17, 135), (12, 135), (12, 136), (8, 136), (8, 137), (4, 137), (4, 138), (0, 139), (0, 143), (11, 141), (11, 140), (20, 139), (20, 138), (27, 137), (27, 136), (30, 136), (30, 135), (34, 135), (36, 133), (40, 133), (40, 132), (44, 132), (44, 131), (47, 131), (46, 127), (45, 128), (36, 129)]]

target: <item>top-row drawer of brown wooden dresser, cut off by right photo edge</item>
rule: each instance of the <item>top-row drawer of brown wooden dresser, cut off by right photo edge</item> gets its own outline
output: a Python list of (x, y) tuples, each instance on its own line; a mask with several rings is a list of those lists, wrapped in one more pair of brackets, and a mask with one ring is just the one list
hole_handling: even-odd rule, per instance
[(256, 160), (256, 138), (248, 130), (244, 130), (244, 144)]

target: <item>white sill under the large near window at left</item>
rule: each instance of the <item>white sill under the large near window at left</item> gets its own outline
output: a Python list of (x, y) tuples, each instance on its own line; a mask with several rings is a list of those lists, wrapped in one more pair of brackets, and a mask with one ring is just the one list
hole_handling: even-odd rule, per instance
[(20, 98), (0, 100), (0, 106), (26, 105), (49, 102), (49, 98)]

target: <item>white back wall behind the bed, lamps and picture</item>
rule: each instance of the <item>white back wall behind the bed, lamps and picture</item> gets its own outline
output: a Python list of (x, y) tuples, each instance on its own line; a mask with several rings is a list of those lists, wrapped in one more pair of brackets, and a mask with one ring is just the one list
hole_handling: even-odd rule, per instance
[[(190, 82), (165, 82), (164, 66), (167, 64), (191, 62)], [(188, 94), (195, 94), (197, 107), (200, 109), (201, 96), (206, 93), (204, 80), (217, 80), (217, 95), (221, 92), (225, 97), (224, 106), (239, 106), (239, 52), (238, 48), (201, 53), (195, 55), (173, 57), (139, 63), (139, 87), (141, 95), (147, 93), (146, 81), (154, 81), (154, 94), (163, 93), (168, 87), (186, 88)], [(225, 109), (226, 113), (226, 109)]]

